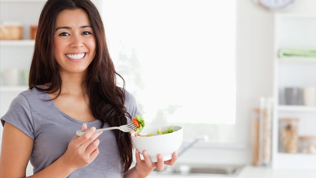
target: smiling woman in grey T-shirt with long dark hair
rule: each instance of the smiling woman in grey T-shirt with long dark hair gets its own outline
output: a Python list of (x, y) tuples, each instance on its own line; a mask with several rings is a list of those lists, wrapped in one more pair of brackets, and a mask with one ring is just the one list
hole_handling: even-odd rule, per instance
[[(143, 178), (171, 160), (153, 163), (135, 151), (129, 133), (94, 134), (139, 114), (135, 98), (116, 86), (104, 26), (89, 0), (48, 0), (40, 14), (29, 89), (1, 118), (0, 178)], [(120, 77), (120, 76), (119, 76)], [(76, 130), (88, 129), (82, 136)]]

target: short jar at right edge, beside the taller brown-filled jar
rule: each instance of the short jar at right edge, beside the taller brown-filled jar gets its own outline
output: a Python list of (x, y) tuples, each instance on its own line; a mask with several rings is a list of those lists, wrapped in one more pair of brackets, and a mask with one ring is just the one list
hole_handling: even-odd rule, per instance
[(300, 136), (300, 152), (308, 154), (316, 154), (316, 135)]

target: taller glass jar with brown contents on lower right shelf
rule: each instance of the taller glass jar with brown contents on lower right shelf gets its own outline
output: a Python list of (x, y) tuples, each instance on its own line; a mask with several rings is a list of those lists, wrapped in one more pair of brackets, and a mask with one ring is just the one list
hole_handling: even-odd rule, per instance
[(279, 119), (279, 151), (286, 153), (298, 152), (298, 123), (297, 118)]

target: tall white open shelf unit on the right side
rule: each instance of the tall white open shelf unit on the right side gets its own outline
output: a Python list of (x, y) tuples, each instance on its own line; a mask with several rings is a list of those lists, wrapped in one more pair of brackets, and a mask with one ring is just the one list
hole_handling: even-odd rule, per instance
[[(283, 130), (280, 122), (298, 119), (297, 135), (292, 137), (300, 146), (299, 136), (316, 135), (316, 106), (304, 103), (303, 89), (316, 87), (316, 56), (279, 56), (279, 49), (316, 49), (316, 14), (275, 14), (274, 16), (274, 113), (273, 113), (273, 154), (274, 168), (316, 169), (316, 153), (306, 154), (299, 149), (280, 149)], [(298, 89), (296, 103), (289, 103), (285, 88)], [(294, 97), (294, 96), (293, 96)], [(313, 98), (316, 100), (316, 98)], [(289, 126), (289, 125), (287, 125)], [(289, 127), (287, 127), (288, 129)], [(293, 135), (292, 135), (293, 136)]]

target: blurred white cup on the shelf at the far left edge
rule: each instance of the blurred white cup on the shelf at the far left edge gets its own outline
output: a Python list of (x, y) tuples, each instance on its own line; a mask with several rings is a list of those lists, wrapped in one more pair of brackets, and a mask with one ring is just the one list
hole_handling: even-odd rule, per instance
[(2, 72), (3, 85), (18, 86), (20, 81), (20, 71), (16, 68), (5, 69)]

